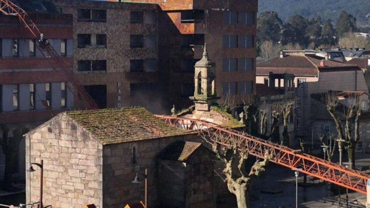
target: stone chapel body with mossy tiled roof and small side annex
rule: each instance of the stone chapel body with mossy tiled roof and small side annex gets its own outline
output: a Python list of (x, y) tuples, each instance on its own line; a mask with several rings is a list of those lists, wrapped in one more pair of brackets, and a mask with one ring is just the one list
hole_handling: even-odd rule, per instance
[[(132, 181), (148, 169), (148, 207), (211, 208), (217, 192), (214, 158), (201, 140), (141, 107), (69, 111), (26, 135), (26, 165), (44, 161), (45, 206), (124, 207), (143, 201), (144, 183)], [(26, 177), (26, 200), (38, 201), (40, 171)], [(173, 197), (162, 197), (168, 191)]]

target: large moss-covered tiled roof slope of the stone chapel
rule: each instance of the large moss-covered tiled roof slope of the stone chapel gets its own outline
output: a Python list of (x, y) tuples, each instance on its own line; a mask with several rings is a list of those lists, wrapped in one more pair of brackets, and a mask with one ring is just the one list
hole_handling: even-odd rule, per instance
[(112, 108), (63, 113), (95, 135), (102, 144), (115, 144), (189, 134), (163, 123), (145, 108)]

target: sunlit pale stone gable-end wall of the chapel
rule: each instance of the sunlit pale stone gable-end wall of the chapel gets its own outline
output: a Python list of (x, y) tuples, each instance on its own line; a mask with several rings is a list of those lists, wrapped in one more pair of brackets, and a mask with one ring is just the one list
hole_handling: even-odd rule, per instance
[[(44, 160), (44, 206), (102, 208), (102, 145), (60, 114), (26, 136), (26, 170)], [(39, 200), (40, 168), (26, 172), (26, 201)]]

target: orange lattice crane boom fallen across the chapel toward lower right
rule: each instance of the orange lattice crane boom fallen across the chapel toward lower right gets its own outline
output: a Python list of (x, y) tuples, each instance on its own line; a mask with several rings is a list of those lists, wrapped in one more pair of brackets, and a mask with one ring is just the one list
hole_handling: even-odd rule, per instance
[(288, 147), (207, 121), (164, 115), (156, 116), (165, 123), (178, 128), (203, 131), (211, 141), (220, 145), (230, 146), (232, 142), (236, 141), (238, 147), (245, 147), (249, 154), (259, 158), (264, 158), (265, 152), (269, 151), (273, 155), (271, 162), (288, 168), (302, 168), (300, 172), (307, 175), (366, 194), (366, 181), (370, 178), (370, 175), (363, 172), (355, 171), (309, 154), (297, 153)]

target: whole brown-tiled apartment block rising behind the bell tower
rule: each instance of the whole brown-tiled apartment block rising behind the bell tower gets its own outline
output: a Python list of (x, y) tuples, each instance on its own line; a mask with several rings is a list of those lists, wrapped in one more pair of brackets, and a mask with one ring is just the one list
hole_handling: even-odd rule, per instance
[(74, 16), (74, 70), (101, 107), (191, 105), (204, 43), (218, 93), (253, 93), (257, 0), (133, 2), (54, 0)]

